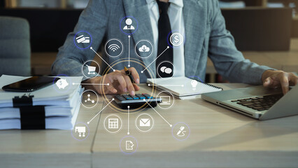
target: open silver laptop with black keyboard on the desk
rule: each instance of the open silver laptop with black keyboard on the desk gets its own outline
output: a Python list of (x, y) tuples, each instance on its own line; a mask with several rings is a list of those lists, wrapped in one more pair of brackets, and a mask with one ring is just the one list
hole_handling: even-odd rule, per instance
[(245, 87), (201, 94), (201, 98), (258, 120), (298, 114), (298, 85), (283, 95), (281, 88)]

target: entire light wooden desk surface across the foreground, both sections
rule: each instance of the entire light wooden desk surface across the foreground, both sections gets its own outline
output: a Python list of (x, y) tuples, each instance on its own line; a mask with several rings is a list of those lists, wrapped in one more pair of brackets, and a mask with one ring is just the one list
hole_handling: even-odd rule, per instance
[[(216, 84), (225, 90), (244, 84)], [(141, 92), (149, 87), (141, 86)], [(106, 103), (92, 110), (82, 106), (77, 122), (86, 123)], [(90, 137), (76, 141), (70, 131), (0, 131), (0, 162), (4, 167), (297, 167), (298, 116), (258, 121), (201, 99), (176, 99), (169, 110), (155, 108), (169, 123), (187, 123), (190, 137), (177, 141), (171, 127), (153, 110), (150, 132), (136, 130), (130, 113), (130, 136), (137, 139), (136, 153), (125, 155), (119, 143), (127, 136), (127, 113), (107, 106), (90, 123)], [(106, 132), (104, 119), (118, 114), (123, 127), (117, 134)], [(152, 162), (153, 161), (153, 162)]]

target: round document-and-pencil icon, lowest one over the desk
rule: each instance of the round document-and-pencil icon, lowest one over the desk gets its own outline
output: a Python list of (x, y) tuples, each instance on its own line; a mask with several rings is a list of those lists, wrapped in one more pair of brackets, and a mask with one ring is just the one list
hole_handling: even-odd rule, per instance
[(123, 137), (119, 143), (120, 150), (126, 155), (132, 155), (139, 147), (138, 141), (132, 136)]

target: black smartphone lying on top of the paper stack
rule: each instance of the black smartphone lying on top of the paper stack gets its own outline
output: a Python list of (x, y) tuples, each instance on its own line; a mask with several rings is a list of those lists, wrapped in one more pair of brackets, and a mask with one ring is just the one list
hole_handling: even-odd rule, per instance
[(33, 92), (48, 85), (52, 85), (60, 78), (48, 76), (33, 76), (16, 83), (11, 83), (2, 87), (3, 90), (8, 92)]

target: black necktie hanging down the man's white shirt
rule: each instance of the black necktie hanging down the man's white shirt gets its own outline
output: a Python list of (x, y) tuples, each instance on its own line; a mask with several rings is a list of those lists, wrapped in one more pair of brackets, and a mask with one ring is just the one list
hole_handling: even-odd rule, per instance
[[(169, 3), (165, 3), (157, 0), (157, 4), (160, 10), (159, 20), (158, 20), (158, 49), (157, 49), (157, 57), (166, 50), (168, 44), (168, 35), (169, 38), (171, 34), (171, 24), (168, 15)], [(167, 49), (160, 57), (156, 60), (157, 67), (157, 78), (166, 78), (173, 76), (173, 65), (169, 62), (173, 63), (173, 48)]]

